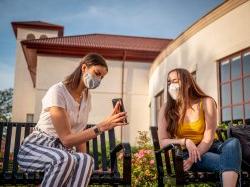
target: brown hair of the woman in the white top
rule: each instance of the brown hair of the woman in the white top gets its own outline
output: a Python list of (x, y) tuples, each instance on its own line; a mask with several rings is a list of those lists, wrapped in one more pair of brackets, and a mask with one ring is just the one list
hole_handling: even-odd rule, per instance
[(108, 65), (103, 58), (103, 56), (97, 54), (97, 53), (89, 53), (83, 59), (80, 61), (77, 68), (65, 78), (63, 83), (68, 86), (70, 89), (76, 89), (80, 83), (80, 80), (82, 78), (82, 65), (86, 64), (86, 66), (89, 68), (91, 66), (103, 66), (108, 71)]

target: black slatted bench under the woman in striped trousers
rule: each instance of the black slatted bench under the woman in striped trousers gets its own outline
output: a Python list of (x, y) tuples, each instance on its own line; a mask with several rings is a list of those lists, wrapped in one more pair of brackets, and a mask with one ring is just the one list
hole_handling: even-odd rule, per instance
[[(24, 173), (19, 170), (17, 163), (20, 143), (32, 132), (34, 126), (34, 123), (0, 122), (0, 184), (41, 183), (43, 173)], [(124, 154), (122, 174), (117, 166), (117, 153), (121, 150)], [(90, 184), (131, 185), (131, 148), (128, 143), (116, 145), (114, 129), (87, 142), (87, 152), (95, 161)]]

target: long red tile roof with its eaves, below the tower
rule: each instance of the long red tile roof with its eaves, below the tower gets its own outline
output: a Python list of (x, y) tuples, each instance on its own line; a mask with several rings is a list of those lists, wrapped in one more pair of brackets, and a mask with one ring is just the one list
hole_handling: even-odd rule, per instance
[(35, 87), (37, 54), (83, 57), (96, 52), (106, 59), (152, 63), (171, 41), (161, 38), (87, 34), (24, 40), (21, 44)]

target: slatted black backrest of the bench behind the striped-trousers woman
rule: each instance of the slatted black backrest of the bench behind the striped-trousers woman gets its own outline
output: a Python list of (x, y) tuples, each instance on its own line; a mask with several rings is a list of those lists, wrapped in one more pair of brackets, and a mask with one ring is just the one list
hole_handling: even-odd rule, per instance
[[(14, 174), (18, 172), (17, 154), (20, 144), (33, 131), (35, 125), (35, 123), (0, 122), (0, 172)], [(87, 128), (92, 126), (94, 125), (87, 125)], [(110, 169), (109, 152), (116, 146), (114, 129), (102, 133), (86, 145), (87, 152), (95, 161), (94, 170), (108, 171)], [(117, 163), (113, 171), (117, 171)]]

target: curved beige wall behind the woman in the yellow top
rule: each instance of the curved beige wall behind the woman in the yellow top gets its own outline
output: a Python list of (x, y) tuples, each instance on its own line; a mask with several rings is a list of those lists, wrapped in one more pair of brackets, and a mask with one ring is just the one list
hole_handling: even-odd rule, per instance
[(156, 125), (154, 96), (166, 87), (166, 74), (173, 68), (182, 67), (191, 72), (196, 70), (198, 84), (218, 100), (216, 62), (250, 46), (249, 17), (250, 1), (199, 30), (165, 57), (149, 80), (153, 125)]

